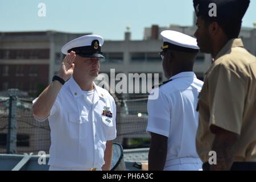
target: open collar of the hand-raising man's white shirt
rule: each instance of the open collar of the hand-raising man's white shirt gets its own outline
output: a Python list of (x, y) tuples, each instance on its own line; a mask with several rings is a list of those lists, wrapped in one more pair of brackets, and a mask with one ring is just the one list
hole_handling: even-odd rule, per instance
[[(84, 92), (82, 92), (82, 89), (77, 84), (77, 82), (74, 80), (73, 77), (71, 77), (68, 81), (68, 86), (72, 92), (72, 95), (74, 98), (80, 97), (84, 95)], [(105, 99), (105, 94), (102, 93), (97, 87), (97, 85), (93, 82), (94, 91), (96, 94), (94, 94), (94, 103), (96, 103), (100, 98)]]

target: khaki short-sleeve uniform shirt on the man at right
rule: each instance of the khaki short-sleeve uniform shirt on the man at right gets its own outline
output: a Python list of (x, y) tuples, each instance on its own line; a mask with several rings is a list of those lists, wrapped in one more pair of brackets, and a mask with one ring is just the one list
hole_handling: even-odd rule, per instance
[(210, 125), (239, 134), (236, 162), (256, 162), (256, 57), (232, 39), (209, 68), (199, 96), (196, 150), (208, 162), (214, 134)]

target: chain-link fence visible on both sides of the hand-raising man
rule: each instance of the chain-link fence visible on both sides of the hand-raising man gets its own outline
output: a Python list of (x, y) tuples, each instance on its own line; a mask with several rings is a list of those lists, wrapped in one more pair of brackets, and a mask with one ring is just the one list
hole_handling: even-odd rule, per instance
[[(32, 98), (16, 98), (11, 110), (11, 97), (0, 97), (0, 153), (24, 154), (49, 151), (51, 145), (48, 121), (38, 122), (32, 115)], [(117, 105), (117, 138), (124, 148), (148, 147), (147, 97), (122, 98)], [(13, 112), (16, 111), (16, 115)], [(11, 113), (10, 113), (11, 112)], [(14, 118), (15, 115), (15, 118)], [(15, 120), (15, 125), (10, 125)], [(15, 135), (15, 136), (14, 136)], [(12, 138), (13, 137), (13, 138)], [(15, 141), (16, 139), (16, 141)], [(16, 143), (15, 151), (10, 143)]]

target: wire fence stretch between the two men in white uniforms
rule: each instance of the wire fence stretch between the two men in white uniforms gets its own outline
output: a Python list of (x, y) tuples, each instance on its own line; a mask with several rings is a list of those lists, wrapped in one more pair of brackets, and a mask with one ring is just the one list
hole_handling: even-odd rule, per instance
[(127, 98), (117, 107), (117, 142), (123, 148), (148, 147), (147, 97)]

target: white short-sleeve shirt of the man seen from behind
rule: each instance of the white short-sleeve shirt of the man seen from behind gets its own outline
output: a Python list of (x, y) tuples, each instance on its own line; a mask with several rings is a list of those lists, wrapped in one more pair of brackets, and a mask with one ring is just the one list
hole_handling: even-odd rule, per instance
[(148, 100), (146, 130), (168, 137), (167, 161), (198, 158), (196, 105), (203, 81), (197, 79), (193, 72), (181, 72), (170, 80), (159, 87), (156, 100)]

